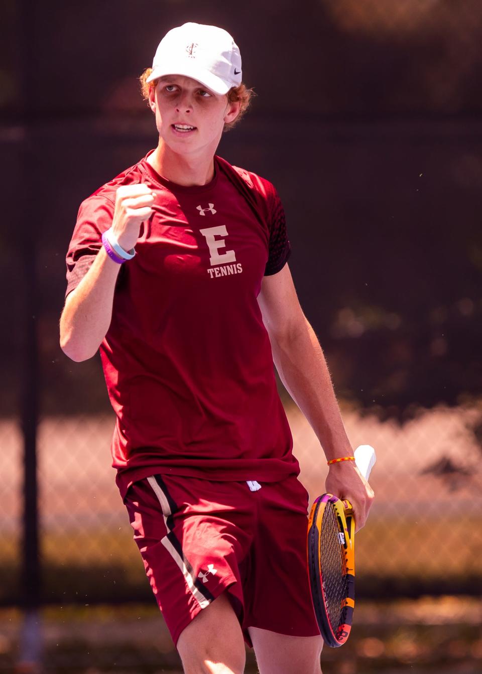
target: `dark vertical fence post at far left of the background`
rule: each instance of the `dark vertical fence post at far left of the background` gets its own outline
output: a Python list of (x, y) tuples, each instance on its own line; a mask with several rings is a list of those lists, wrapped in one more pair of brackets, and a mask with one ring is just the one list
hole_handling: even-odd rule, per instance
[[(36, 274), (38, 218), (35, 217), (35, 181), (27, 180), (34, 175), (36, 156), (34, 152), (34, 121), (36, 120), (36, 97), (32, 94), (31, 67), (34, 62), (34, 32), (36, 3), (22, 0), (20, 5), (20, 42), (22, 44), (22, 90), (20, 109), (24, 137), (22, 139), (22, 163), (19, 181), (19, 199), (24, 204), (23, 222), (20, 226), (21, 259), (24, 276), (24, 353), (22, 354), (22, 433), (24, 437), (24, 485), (22, 522), (22, 574), (20, 576), (24, 622), (20, 634), (18, 671), (40, 671), (41, 633), (40, 615), (40, 559), (38, 541), (38, 483), (37, 483), (37, 425), (38, 425), (38, 279)], [(28, 189), (24, 193), (24, 186)]]

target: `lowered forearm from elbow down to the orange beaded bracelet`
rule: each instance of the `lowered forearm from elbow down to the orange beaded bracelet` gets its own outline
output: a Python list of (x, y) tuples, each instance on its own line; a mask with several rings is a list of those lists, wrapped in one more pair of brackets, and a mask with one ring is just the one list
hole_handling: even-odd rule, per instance
[(280, 379), (315, 431), (327, 460), (351, 455), (328, 366), (313, 328), (305, 319), (291, 336), (271, 342)]

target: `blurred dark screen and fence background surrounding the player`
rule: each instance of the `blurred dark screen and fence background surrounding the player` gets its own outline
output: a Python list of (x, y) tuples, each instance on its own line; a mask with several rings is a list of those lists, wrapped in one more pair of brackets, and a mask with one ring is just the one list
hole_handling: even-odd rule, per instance
[[(324, 671), (480, 673), (481, 3), (2, 7), (0, 671), (179, 671), (114, 484), (100, 361), (69, 361), (58, 321), (78, 206), (156, 145), (138, 76), (195, 21), (239, 44), (257, 96), (218, 152), (278, 188), (349, 437), (378, 453), (355, 627)], [(313, 499), (325, 462), (280, 394)]]

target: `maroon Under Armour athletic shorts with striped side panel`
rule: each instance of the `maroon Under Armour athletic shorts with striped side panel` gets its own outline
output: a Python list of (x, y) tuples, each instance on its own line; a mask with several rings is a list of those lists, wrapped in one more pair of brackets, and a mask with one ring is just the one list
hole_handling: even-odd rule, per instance
[(134, 540), (175, 644), (202, 609), (227, 590), (248, 627), (319, 635), (307, 572), (306, 489), (278, 483), (210, 482), (153, 475), (125, 497)]

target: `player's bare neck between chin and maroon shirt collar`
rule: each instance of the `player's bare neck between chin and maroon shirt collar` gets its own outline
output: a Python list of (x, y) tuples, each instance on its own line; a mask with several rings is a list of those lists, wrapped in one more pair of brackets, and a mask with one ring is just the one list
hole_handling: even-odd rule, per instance
[(177, 154), (162, 142), (162, 138), (147, 160), (156, 173), (177, 185), (206, 185), (214, 177), (214, 158), (211, 154), (208, 157)]

